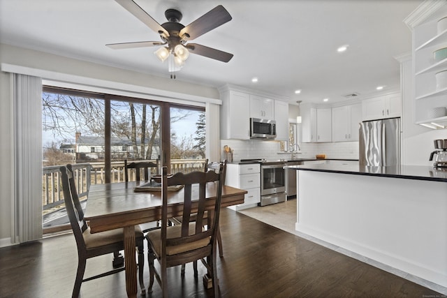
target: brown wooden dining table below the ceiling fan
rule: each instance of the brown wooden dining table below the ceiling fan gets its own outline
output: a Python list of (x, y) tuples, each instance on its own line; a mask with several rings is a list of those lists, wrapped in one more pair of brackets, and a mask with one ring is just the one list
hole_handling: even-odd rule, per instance
[[(126, 292), (136, 297), (137, 265), (135, 260), (135, 225), (161, 220), (161, 191), (135, 191), (144, 182), (95, 184), (89, 189), (85, 220), (92, 233), (124, 228), (124, 262), (126, 264)], [(198, 187), (193, 192), (198, 192)], [(217, 187), (207, 184), (207, 209), (214, 209)], [(221, 207), (244, 202), (247, 191), (223, 186)], [(168, 218), (181, 216), (183, 188), (168, 193)], [(197, 211), (193, 204), (192, 211)]]

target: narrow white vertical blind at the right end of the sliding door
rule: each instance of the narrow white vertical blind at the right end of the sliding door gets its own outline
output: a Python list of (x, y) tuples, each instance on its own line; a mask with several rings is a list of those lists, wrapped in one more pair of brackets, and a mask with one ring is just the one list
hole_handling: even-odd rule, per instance
[(210, 161), (221, 161), (219, 107), (214, 103), (205, 105), (205, 155)]

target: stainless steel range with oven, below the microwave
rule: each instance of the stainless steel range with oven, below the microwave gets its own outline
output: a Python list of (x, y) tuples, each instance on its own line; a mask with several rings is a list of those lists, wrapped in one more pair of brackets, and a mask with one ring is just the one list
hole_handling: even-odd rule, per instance
[(286, 201), (286, 161), (265, 161), (265, 159), (243, 159), (261, 163), (261, 203), (265, 206)]

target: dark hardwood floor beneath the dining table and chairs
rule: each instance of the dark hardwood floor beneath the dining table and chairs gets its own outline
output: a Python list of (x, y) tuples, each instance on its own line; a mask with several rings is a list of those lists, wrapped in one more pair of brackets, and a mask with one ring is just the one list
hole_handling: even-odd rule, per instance
[[(442, 297), (346, 255), (230, 209), (221, 212), (222, 297)], [(87, 275), (111, 267), (112, 255), (87, 261)], [(0, 297), (71, 297), (78, 262), (73, 234), (0, 249)], [(210, 297), (192, 265), (170, 268), (170, 297)], [(145, 264), (145, 285), (149, 270)], [(126, 297), (124, 272), (82, 284), (81, 297)], [(146, 297), (160, 297), (159, 285)]]

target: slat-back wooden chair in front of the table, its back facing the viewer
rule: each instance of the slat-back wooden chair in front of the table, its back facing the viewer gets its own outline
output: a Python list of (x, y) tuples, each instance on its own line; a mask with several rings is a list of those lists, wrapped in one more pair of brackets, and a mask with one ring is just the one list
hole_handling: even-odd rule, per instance
[[(208, 276), (212, 279), (214, 297), (218, 297), (216, 244), (223, 186), (222, 170), (219, 173), (200, 171), (183, 174), (179, 172), (169, 179), (166, 167), (163, 167), (162, 172), (161, 229), (146, 234), (150, 276), (148, 290), (152, 291), (155, 277), (161, 286), (163, 297), (168, 297), (166, 268), (201, 260), (207, 268)], [(179, 184), (184, 185), (182, 224), (168, 227), (168, 186)], [(207, 184), (216, 193), (216, 200), (212, 206), (212, 218), (210, 216), (204, 218), (206, 209), (210, 208), (207, 206)], [(198, 189), (193, 191), (196, 187)], [(191, 211), (197, 213), (196, 221), (189, 220)], [(207, 221), (207, 228), (203, 228), (205, 221)], [(160, 263), (159, 271), (154, 266), (155, 259)], [(198, 276), (197, 268), (194, 269), (194, 275)]]

